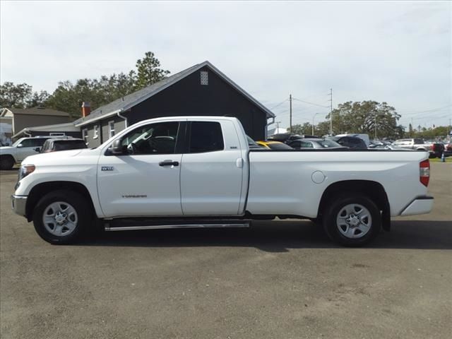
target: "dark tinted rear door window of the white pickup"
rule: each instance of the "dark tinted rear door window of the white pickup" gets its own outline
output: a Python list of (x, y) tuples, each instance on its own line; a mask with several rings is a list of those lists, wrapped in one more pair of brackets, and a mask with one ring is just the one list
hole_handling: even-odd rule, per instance
[(191, 122), (189, 153), (215, 152), (215, 150), (224, 149), (225, 143), (219, 122)]

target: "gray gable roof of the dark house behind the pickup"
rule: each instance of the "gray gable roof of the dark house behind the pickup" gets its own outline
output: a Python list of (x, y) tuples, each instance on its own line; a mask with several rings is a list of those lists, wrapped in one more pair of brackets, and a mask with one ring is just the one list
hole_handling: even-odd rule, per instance
[(258, 102), (256, 99), (254, 99), (254, 97), (251, 97), (251, 95), (249, 95), (249, 93), (246, 93), (245, 90), (243, 90), (241, 87), (239, 87), (239, 85), (234, 83), (230, 78), (227, 78), (227, 76), (225, 76), (225, 74), (223, 74), (220, 70), (218, 70), (215, 66), (213, 66), (213, 64), (210, 64), (209, 61), (204, 61), (201, 64), (191, 66), (190, 68), (185, 69), (184, 71), (180, 71), (179, 73), (175, 73), (172, 76), (169, 76), (168, 78), (158, 81), (157, 83), (153, 83), (153, 85), (150, 85), (146, 88), (142, 88), (141, 90), (137, 90), (134, 93), (131, 93), (124, 97), (120, 97), (119, 99), (114, 100), (113, 102), (110, 102), (107, 105), (99, 107), (99, 108), (95, 109), (90, 115), (88, 115), (88, 117), (82, 117), (82, 118), (74, 121), (74, 124), (76, 124), (76, 126), (83, 126), (85, 124), (90, 124), (91, 122), (101, 120), (106, 117), (110, 117), (114, 114), (124, 112), (127, 109), (130, 109), (131, 107), (138, 105), (140, 102), (143, 102), (144, 100), (148, 100), (153, 95), (156, 95), (160, 91), (165, 90), (165, 88), (168, 88), (170, 85), (177, 83), (178, 81), (182, 80), (183, 78), (186, 78), (186, 76), (189, 76), (190, 74), (202, 69), (205, 66), (207, 66), (210, 70), (212, 70), (214, 73), (216, 73), (218, 76), (220, 76), (220, 78), (222, 78), (229, 85), (231, 85), (233, 88), (235, 88), (239, 93), (244, 95), (248, 100), (253, 102), (256, 106), (261, 108), (263, 110), (263, 112), (266, 112), (267, 118), (275, 117), (275, 114), (270, 112), (270, 110), (267, 107), (263, 106), (260, 102)]

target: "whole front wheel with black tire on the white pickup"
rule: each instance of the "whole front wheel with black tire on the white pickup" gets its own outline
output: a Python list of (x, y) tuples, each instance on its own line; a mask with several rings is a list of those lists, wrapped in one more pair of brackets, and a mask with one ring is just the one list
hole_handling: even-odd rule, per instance
[[(66, 224), (64, 224), (64, 222), (59, 224), (56, 221), (57, 219), (55, 219), (54, 232), (57, 233), (55, 230), (57, 230), (57, 227), (61, 226), (61, 235), (52, 233), (51, 222), (46, 222), (44, 225), (44, 213), (47, 213), (49, 219), (53, 217), (52, 213), (54, 213), (54, 210), (52, 210), (52, 204), (63, 206), (63, 209), (60, 209), (59, 213), (64, 213), (64, 206), (69, 206), (69, 212), (75, 210), (76, 213), (75, 218), (73, 213), (66, 217)], [(91, 207), (85, 197), (74, 191), (59, 190), (46, 194), (37, 203), (33, 210), (33, 224), (35, 225), (37, 234), (39, 234), (46, 242), (49, 242), (50, 244), (73, 244), (79, 242), (85, 236), (86, 230), (88, 230), (88, 227), (92, 223), (91, 216)], [(73, 222), (74, 220), (76, 222)], [(72, 230), (69, 230), (69, 227), (66, 227), (66, 229), (64, 228), (66, 225), (69, 225), (69, 223), (75, 225), (75, 227), (71, 227)], [(66, 234), (64, 234), (64, 232), (66, 232)]]

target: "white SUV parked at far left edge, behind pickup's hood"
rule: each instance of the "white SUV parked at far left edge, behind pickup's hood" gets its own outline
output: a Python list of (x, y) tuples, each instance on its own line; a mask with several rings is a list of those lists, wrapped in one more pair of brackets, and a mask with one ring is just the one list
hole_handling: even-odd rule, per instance
[(11, 146), (0, 147), (0, 169), (11, 169), (25, 157), (36, 154), (48, 138), (52, 136), (20, 138)]

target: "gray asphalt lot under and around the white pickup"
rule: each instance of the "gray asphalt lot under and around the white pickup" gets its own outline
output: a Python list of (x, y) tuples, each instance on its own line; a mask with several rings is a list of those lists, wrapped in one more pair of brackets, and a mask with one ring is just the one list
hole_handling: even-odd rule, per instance
[(1, 337), (449, 338), (451, 173), (432, 164), (432, 213), (346, 249), (294, 220), (52, 246), (13, 214), (2, 171)]

